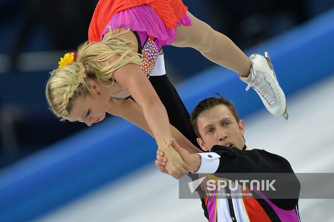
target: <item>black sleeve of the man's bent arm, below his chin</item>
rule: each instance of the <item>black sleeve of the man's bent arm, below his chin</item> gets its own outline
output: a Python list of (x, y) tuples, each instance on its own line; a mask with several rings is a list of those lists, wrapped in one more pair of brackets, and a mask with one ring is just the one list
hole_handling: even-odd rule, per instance
[[(215, 152), (220, 155), (218, 169), (213, 175), (222, 177), (222, 173), (245, 173), (245, 175), (249, 173), (289, 173), (286, 174), (288, 176), (284, 181), (277, 182), (278, 187), (285, 187), (285, 191), (282, 191), (281, 195), (285, 195), (287, 190), (286, 188), (289, 188), (289, 191), (292, 192), (294, 196), (299, 197), (300, 182), (294, 174), (290, 163), (285, 158), (269, 153), (265, 150), (240, 150), (236, 147), (226, 147), (220, 145), (213, 146), (211, 152)], [(237, 177), (233, 177), (234, 176), (231, 176), (231, 178), (225, 178), (232, 180), (239, 179)], [(277, 192), (280, 193), (279, 190)], [(266, 191), (263, 191), (263, 193), (266, 194)], [(284, 210), (294, 209), (298, 203), (298, 198), (270, 200), (276, 206)]]

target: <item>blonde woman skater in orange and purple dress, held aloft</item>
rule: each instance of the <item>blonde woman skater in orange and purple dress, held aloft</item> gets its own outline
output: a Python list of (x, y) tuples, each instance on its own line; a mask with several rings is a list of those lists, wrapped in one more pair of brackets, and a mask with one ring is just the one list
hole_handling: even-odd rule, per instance
[[(152, 76), (150, 81), (147, 78), (154, 74), (153, 68), (163, 45), (199, 50), (208, 59), (240, 73), (239, 77), (248, 83), (247, 89), (255, 88), (274, 115), (286, 113), (284, 93), (272, 73), (270, 60), (253, 54), (250, 61), (226, 36), (187, 12), (180, 0), (100, 0), (90, 25), (89, 40), (91, 43), (79, 48), (75, 62), (61, 64), (51, 73), (46, 95), (53, 112), (64, 119), (91, 125), (101, 121), (108, 111), (136, 124), (139, 120), (129, 111), (130, 100), (110, 99), (132, 96), (140, 105), (158, 148), (167, 159), (177, 160), (166, 165), (174, 177), (189, 166), (166, 145), (172, 137), (167, 113), (172, 117), (171, 124), (193, 144), (197, 143), (195, 134), (189, 130), (189, 114), (167, 76), (157, 76), (156, 80)], [(275, 94), (276, 89), (279, 95)], [(166, 112), (163, 103), (171, 100), (176, 104), (175, 109)], [(98, 112), (95, 107), (104, 112), (100, 109)], [(137, 122), (137, 125), (140, 124)], [(194, 150), (190, 148), (189, 152), (194, 153)], [(169, 155), (177, 158), (169, 158)]]

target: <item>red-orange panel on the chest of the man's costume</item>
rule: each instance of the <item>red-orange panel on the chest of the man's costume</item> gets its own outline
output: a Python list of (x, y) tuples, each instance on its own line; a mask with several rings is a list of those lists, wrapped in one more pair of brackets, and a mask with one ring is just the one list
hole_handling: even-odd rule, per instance
[[(242, 192), (248, 194), (251, 193), (249, 192), (248, 187), (246, 187), (246, 190)], [(242, 198), (242, 201), (246, 209), (249, 221), (271, 222), (266, 211), (261, 207), (259, 202), (256, 199), (254, 199), (254, 197), (252, 196), (245, 196), (245, 197), (246, 198)]]

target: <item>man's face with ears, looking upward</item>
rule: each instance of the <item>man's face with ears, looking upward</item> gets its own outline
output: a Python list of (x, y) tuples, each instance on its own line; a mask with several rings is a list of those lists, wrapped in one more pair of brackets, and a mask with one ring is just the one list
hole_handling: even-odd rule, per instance
[(217, 105), (202, 112), (197, 120), (198, 144), (203, 150), (211, 150), (213, 145), (235, 146), (240, 150), (244, 146), (244, 124), (236, 122), (233, 114), (225, 105)]

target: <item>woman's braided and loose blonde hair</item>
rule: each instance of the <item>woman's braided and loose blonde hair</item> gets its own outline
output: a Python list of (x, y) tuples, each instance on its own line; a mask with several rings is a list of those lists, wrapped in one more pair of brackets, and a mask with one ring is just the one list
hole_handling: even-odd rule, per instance
[[(115, 70), (129, 63), (140, 65), (140, 54), (127, 46), (133, 42), (121, 36), (129, 31), (116, 33), (113, 30), (101, 42), (83, 43), (78, 47), (75, 62), (50, 72), (45, 94), (49, 107), (56, 116), (65, 120), (63, 117), (69, 116), (73, 101), (90, 94), (89, 80), (96, 79), (101, 85), (110, 87), (114, 83)], [(109, 64), (108, 59), (114, 55), (119, 55), (120, 58)], [(104, 61), (107, 61), (106, 66), (101, 65)]]

